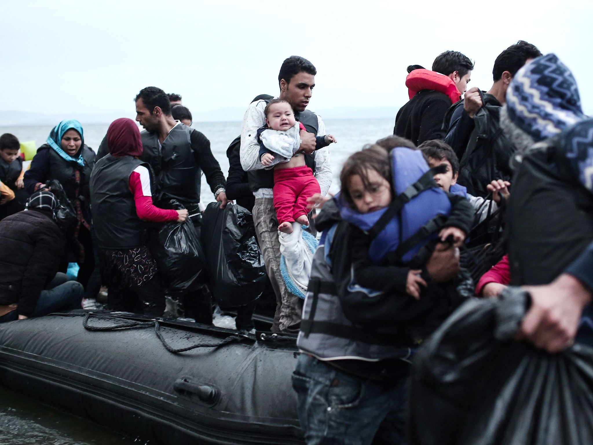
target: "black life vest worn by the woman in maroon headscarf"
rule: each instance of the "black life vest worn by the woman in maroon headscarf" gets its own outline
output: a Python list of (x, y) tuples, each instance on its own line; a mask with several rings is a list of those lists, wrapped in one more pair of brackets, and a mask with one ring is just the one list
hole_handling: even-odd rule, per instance
[(138, 218), (130, 190), (130, 174), (138, 166), (151, 171), (139, 159), (108, 154), (97, 162), (91, 174), (93, 223), (99, 246), (104, 249), (129, 249), (145, 241), (146, 222)]

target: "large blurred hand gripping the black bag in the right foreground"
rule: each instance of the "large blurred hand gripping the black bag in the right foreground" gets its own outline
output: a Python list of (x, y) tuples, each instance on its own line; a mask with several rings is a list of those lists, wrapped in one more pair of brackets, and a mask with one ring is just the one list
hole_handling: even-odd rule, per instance
[(591, 291), (569, 274), (560, 275), (550, 284), (524, 289), (531, 294), (531, 308), (521, 323), (519, 338), (551, 354), (570, 347), (583, 308), (591, 301)]

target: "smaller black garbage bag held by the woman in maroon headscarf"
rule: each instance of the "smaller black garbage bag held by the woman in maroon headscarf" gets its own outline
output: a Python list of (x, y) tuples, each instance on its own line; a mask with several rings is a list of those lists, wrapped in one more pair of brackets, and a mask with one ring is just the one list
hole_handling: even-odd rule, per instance
[[(170, 206), (177, 210), (183, 208), (176, 201), (171, 201)], [(168, 293), (196, 291), (206, 283), (202, 242), (190, 218), (162, 225), (154, 245), (154, 255)]]

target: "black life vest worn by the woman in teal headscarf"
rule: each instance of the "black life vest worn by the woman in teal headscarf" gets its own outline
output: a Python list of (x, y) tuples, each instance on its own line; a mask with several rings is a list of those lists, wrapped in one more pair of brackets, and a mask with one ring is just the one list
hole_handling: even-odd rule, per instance
[[(84, 202), (85, 206), (87, 206), (90, 199), (88, 183), (91, 179), (91, 171), (93, 171), (95, 165), (95, 152), (88, 148), (86, 144), (82, 145), (81, 154), (82, 159), (84, 159), (84, 167), (81, 167), (78, 163), (66, 161), (47, 144), (39, 147), (37, 151), (39, 152), (40, 150), (49, 150), (49, 168), (47, 170), (48, 176), (46, 180), (57, 179), (70, 201), (74, 203), (74, 201), (79, 198), (81, 199), (81, 202)], [(80, 171), (78, 196), (75, 193), (76, 179), (74, 172), (76, 170)]]

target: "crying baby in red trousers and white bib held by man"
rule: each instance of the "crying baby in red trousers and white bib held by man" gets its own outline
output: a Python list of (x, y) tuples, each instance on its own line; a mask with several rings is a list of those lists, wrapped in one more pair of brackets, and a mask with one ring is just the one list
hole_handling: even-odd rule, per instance
[[(278, 218), (278, 230), (292, 233), (292, 222), (309, 225), (307, 198), (321, 189), (313, 171), (305, 165), (305, 155), (298, 149), (301, 145), (299, 131), (302, 123), (295, 120), (291, 105), (282, 99), (271, 100), (264, 110), (266, 126), (257, 131), (260, 141), (259, 157), (266, 167), (274, 166), (274, 208)], [(317, 136), (316, 147), (326, 147), (336, 138), (331, 135)]]

